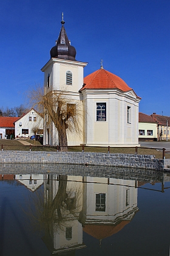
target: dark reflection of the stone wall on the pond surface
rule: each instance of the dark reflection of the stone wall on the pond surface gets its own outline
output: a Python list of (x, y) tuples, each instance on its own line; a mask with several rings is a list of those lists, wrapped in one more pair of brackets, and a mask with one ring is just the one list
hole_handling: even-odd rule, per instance
[(68, 176), (105, 177), (121, 180), (136, 180), (144, 183), (170, 181), (168, 172), (116, 166), (64, 165), (53, 163), (0, 163), (0, 174), (50, 174)]

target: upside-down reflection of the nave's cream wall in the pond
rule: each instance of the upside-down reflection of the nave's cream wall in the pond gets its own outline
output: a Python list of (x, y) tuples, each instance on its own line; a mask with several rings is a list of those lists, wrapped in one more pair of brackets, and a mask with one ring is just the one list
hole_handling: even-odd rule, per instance
[[(137, 207), (134, 180), (84, 177), (83, 224), (111, 224), (131, 221)], [(129, 187), (128, 187), (129, 186)]]

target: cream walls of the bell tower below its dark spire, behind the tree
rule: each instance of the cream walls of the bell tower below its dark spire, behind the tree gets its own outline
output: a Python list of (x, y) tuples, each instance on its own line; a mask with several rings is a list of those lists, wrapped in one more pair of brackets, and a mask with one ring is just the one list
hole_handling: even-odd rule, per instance
[[(44, 93), (49, 91), (66, 91), (66, 98), (72, 104), (80, 102), (81, 94), (78, 92), (83, 86), (83, 68), (85, 62), (76, 62), (70, 60), (50, 59), (49, 62), (41, 69), (44, 72)], [(72, 85), (66, 85), (66, 73), (72, 72)], [(49, 82), (48, 82), (49, 77)], [(81, 124), (82, 125), (82, 124)], [(80, 145), (83, 143), (77, 134), (67, 132), (68, 145)], [(58, 145), (58, 133), (52, 123), (48, 120), (48, 116), (44, 118), (44, 144), (53, 146)]]

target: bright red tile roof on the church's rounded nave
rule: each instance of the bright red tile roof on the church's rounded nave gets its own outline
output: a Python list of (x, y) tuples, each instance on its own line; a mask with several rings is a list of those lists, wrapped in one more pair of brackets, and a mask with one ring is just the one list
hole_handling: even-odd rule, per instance
[(84, 86), (80, 91), (84, 89), (113, 89), (117, 88), (121, 91), (132, 90), (120, 77), (109, 71), (101, 68), (92, 74), (84, 77)]

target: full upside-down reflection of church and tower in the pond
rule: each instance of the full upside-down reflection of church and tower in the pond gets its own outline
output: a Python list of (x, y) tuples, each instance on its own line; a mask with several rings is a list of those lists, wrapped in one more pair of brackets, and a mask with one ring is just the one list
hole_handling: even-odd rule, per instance
[(85, 247), (83, 231), (101, 241), (123, 229), (138, 211), (135, 185), (134, 180), (46, 174), (45, 201), (55, 205), (56, 216), (43, 238), (50, 252)]

